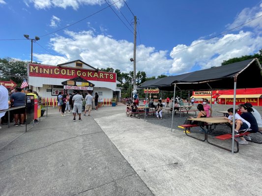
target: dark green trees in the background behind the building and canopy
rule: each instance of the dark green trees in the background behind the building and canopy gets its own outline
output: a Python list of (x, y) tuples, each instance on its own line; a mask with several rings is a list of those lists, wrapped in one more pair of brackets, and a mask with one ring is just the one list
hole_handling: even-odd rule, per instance
[[(262, 64), (262, 49), (259, 50), (258, 53), (255, 53), (253, 55), (244, 55), (241, 57), (235, 57), (228, 60), (224, 60), (221, 65), (228, 65), (231, 63), (244, 61), (252, 58), (258, 58), (260, 63)], [(18, 86), (21, 85), (23, 82), (23, 79), (27, 78), (27, 65), (29, 61), (21, 61), (14, 58), (6, 57), (6, 58), (0, 58), (0, 80), (9, 81), (10, 79), (17, 83)], [(33, 62), (36, 64), (39, 64), (37, 62)], [(126, 98), (130, 97), (131, 93), (133, 91), (133, 77), (134, 72), (121, 72), (119, 69), (114, 68), (98, 68), (99, 71), (103, 72), (112, 72), (116, 73), (116, 80), (120, 82), (120, 84), (117, 84), (117, 87), (121, 87), (121, 97)], [(147, 77), (146, 72), (144, 71), (138, 71), (136, 74), (136, 84), (137, 86), (142, 84), (143, 82), (151, 79), (156, 78), (163, 78), (167, 77), (167, 75), (161, 74), (158, 76), (151, 76)], [(143, 93), (143, 90), (138, 90), (138, 93), (140, 95), (140, 98), (145, 98), (145, 94)], [(188, 98), (188, 92), (182, 91), (181, 92), (181, 98), (186, 99)], [(180, 92), (176, 92), (176, 95), (180, 97)], [(175, 95), (175, 96), (176, 96)], [(192, 95), (192, 92), (190, 92), (190, 96)], [(160, 91), (160, 93), (157, 95), (158, 98), (172, 98), (173, 93), (168, 91)]]

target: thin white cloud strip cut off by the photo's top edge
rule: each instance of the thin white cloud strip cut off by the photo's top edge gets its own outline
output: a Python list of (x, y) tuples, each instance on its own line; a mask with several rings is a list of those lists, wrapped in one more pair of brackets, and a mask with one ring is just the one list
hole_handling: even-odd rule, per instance
[[(109, 4), (113, 4), (117, 0), (107, 0)], [(67, 7), (72, 7), (77, 10), (80, 5), (102, 5), (106, 3), (105, 0), (24, 0), (24, 2), (29, 6), (30, 3), (34, 5), (36, 9), (47, 9), (51, 7), (61, 7), (66, 9)], [(118, 1), (115, 4), (118, 8), (124, 6), (124, 2)]]

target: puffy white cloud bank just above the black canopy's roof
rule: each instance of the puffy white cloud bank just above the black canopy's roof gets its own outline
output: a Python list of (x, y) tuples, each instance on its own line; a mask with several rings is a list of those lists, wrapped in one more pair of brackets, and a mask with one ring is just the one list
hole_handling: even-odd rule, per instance
[[(262, 48), (262, 37), (256, 36), (250, 31), (226, 34), (221, 38), (205, 41), (198, 40), (192, 42), (190, 46), (178, 45), (174, 47), (171, 52), (174, 61), (169, 72), (173, 74), (189, 72), (196, 65), (201, 69), (220, 66), (223, 60), (254, 54)], [(188, 48), (193, 45), (196, 46)]]

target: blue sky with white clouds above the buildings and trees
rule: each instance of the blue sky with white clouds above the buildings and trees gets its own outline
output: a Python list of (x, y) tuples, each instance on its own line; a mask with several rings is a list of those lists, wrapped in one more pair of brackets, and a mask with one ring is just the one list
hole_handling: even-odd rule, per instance
[(0, 0), (0, 58), (147, 77), (221, 66), (262, 49), (262, 0)]

